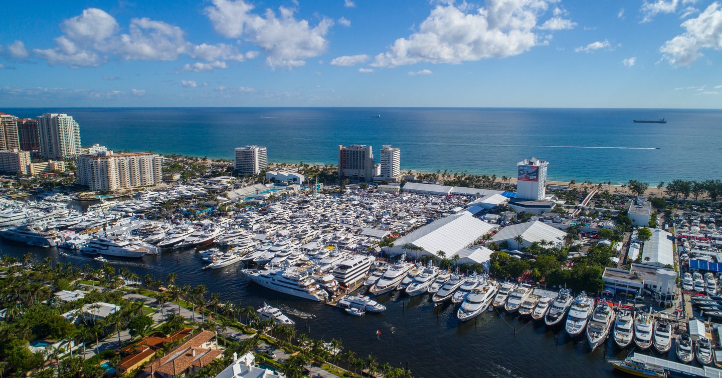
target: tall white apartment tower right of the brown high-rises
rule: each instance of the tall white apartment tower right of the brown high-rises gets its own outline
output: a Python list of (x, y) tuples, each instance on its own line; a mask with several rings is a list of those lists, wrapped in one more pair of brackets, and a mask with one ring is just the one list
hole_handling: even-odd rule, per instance
[(80, 128), (70, 115), (45, 113), (38, 116), (38, 127), (43, 157), (62, 160), (80, 154)]

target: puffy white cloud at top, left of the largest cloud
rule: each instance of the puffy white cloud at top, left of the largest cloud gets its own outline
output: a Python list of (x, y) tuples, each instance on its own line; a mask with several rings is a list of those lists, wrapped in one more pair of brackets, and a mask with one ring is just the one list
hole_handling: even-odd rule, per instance
[(305, 19), (295, 19), (296, 9), (280, 6), (279, 14), (266, 9), (263, 16), (250, 13), (252, 10), (253, 5), (243, 0), (213, 0), (205, 14), (219, 34), (261, 47), (269, 66), (303, 66), (304, 59), (326, 51), (326, 34), (334, 25), (328, 17), (311, 27)]

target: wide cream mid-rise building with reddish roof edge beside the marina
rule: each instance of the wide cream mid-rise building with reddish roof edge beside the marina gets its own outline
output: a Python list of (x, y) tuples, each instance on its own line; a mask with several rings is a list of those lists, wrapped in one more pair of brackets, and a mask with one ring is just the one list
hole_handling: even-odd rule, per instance
[(80, 155), (77, 159), (78, 183), (91, 190), (121, 190), (162, 183), (163, 158), (151, 152), (113, 154), (104, 151)]

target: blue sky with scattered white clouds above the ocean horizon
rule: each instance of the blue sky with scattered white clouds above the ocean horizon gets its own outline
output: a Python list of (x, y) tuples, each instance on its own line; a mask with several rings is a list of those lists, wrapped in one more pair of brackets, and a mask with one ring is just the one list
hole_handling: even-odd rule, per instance
[(722, 107), (703, 0), (12, 1), (0, 107)]

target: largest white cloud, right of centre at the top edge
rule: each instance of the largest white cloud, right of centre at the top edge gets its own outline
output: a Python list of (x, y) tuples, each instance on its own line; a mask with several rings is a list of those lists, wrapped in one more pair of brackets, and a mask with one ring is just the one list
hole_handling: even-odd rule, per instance
[(466, 12), (469, 4), (438, 5), (417, 32), (394, 41), (372, 66), (461, 63), (524, 53), (544, 43), (533, 30), (548, 6), (546, 0), (487, 0), (484, 7)]

